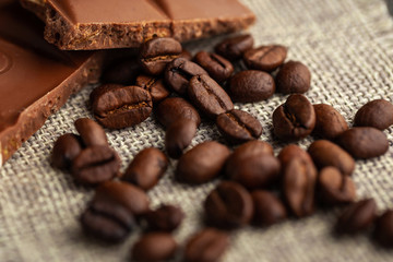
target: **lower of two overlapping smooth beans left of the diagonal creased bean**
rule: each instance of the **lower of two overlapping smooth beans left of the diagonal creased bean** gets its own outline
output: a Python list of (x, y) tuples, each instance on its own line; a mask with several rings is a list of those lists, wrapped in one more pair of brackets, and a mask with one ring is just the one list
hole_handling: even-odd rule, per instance
[(179, 158), (192, 142), (196, 133), (193, 120), (180, 118), (174, 122), (165, 133), (165, 150), (172, 158)]

